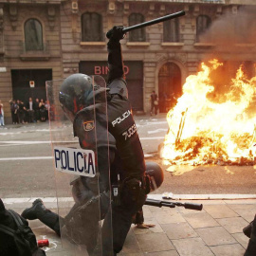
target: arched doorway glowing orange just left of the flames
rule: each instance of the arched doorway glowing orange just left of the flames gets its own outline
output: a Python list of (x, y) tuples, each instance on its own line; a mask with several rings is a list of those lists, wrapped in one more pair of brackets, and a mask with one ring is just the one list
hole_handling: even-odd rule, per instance
[(163, 64), (158, 73), (159, 112), (166, 113), (174, 108), (182, 95), (181, 71), (177, 64)]

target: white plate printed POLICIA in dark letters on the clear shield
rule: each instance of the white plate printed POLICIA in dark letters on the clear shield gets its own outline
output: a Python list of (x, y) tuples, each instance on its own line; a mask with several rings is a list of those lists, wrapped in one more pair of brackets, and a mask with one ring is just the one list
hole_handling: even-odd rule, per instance
[(95, 154), (92, 150), (54, 148), (55, 169), (65, 174), (94, 177), (96, 174)]

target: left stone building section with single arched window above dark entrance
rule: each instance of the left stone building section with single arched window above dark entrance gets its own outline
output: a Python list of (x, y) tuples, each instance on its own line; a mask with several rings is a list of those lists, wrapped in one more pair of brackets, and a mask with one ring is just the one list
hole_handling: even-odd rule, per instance
[(46, 81), (63, 77), (61, 1), (0, 0), (0, 99), (46, 100)]

